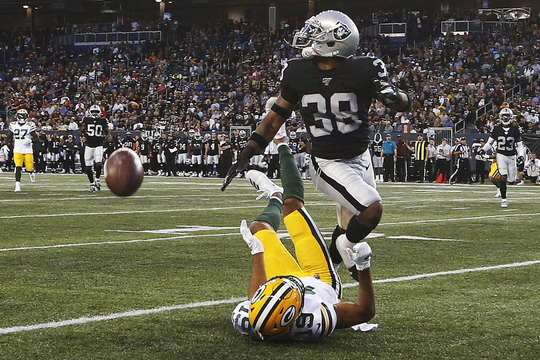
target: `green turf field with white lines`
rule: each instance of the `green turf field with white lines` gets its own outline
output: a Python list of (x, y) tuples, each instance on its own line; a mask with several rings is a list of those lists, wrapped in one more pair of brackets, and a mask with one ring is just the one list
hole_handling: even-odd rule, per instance
[[(23, 174), (18, 194), (13, 178), (0, 173), (0, 358), (540, 357), (540, 188), (509, 187), (501, 209), (488, 185), (380, 185), (379, 328), (267, 344), (231, 324), (251, 270), (238, 226), (266, 206), (246, 180), (222, 193), (218, 179), (147, 177), (117, 198), (89, 194), (83, 175)], [(335, 207), (311, 182), (306, 208), (332, 231)]]

